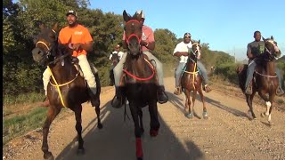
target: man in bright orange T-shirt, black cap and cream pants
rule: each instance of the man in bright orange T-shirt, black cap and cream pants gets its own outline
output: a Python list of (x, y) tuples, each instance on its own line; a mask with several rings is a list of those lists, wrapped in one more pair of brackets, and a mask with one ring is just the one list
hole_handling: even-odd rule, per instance
[[(84, 26), (77, 23), (77, 12), (70, 10), (66, 13), (68, 26), (62, 28), (59, 33), (59, 43), (60, 44), (69, 44), (74, 51), (72, 53), (73, 57), (77, 57), (79, 60), (79, 66), (83, 71), (85, 80), (92, 91), (96, 94), (96, 83), (95, 77), (89, 65), (89, 62), (86, 58), (87, 52), (93, 50), (93, 38), (89, 33), (89, 30)], [(45, 69), (43, 74), (45, 95), (47, 84), (50, 81), (51, 73)], [(94, 106), (94, 95), (92, 96), (92, 106)], [(45, 99), (44, 106), (48, 106), (49, 101)]]

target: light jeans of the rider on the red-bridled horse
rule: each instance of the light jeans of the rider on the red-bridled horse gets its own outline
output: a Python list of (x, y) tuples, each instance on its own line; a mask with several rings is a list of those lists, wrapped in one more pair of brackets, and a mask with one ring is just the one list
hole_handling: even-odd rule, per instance
[[(149, 60), (152, 60), (151, 63), (156, 67), (157, 69), (157, 76), (159, 78), (159, 85), (163, 86), (163, 68), (162, 68), (162, 63), (154, 57), (151, 52), (145, 51), (142, 52), (143, 54), (147, 55)], [(118, 61), (117, 66), (114, 68), (114, 76), (115, 76), (115, 85), (119, 86), (119, 81), (120, 77), (123, 75), (123, 68), (124, 68), (124, 63), (126, 61), (126, 52), (123, 54), (122, 59)], [(155, 60), (155, 61), (153, 61)]]

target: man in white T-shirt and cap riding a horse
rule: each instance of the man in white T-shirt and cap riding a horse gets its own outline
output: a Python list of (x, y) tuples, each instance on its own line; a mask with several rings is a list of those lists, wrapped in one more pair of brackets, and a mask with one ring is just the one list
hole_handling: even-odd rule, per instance
[(176, 44), (173, 55), (180, 58), (179, 64), (175, 70), (175, 94), (181, 94), (180, 78), (183, 73), (183, 68), (188, 59), (188, 50), (191, 49), (191, 34), (185, 33), (183, 42)]

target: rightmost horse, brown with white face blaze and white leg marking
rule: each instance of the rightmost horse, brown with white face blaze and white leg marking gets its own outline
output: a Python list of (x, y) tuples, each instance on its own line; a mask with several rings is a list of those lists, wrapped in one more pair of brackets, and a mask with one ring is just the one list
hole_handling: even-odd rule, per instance
[[(273, 100), (276, 95), (276, 90), (279, 85), (278, 78), (275, 73), (275, 58), (281, 56), (281, 51), (279, 50), (277, 43), (271, 38), (265, 39), (265, 52), (260, 54), (257, 59), (261, 60), (257, 63), (254, 78), (252, 80), (252, 94), (245, 94), (248, 103), (248, 114), (250, 114), (254, 119), (256, 115), (253, 112), (252, 100), (258, 92), (259, 96), (266, 102), (266, 112), (262, 113), (261, 116), (268, 116), (268, 123), (271, 124), (271, 112), (273, 109)], [(244, 85), (247, 78), (247, 68), (248, 65), (243, 65), (237, 68), (237, 74), (239, 76), (240, 88), (244, 91)], [(268, 94), (268, 96), (266, 95)]]

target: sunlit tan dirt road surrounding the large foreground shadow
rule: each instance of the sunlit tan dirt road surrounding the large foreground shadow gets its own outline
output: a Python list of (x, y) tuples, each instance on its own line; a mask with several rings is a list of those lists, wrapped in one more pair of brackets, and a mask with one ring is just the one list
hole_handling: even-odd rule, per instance
[[(189, 159), (285, 159), (285, 116), (273, 110), (273, 125), (267, 124), (261, 112), (265, 108), (255, 105), (256, 120), (248, 120), (248, 106), (244, 99), (224, 95), (222, 92), (205, 93), (208, 120), (184, 116), (183, 95), (175, 96), (174, 78), (165, 79), (169, 102), (159, 104), (160, 130), (151, 138), (150, 116), (143, 108), (144, 132), (142, 138), (145, 160)], [(114, 90), (103, 92), (102, 124), (97, 129), (94, 108), (85, 104), (83, 109), (83, 136), (85, 155), (77, 156), (75, 118), (71, 111), (57, 118), (49, 134), (49, 148), (56, 159), (134, 160), (135, 140), (133, 121), (126, 118), (124, 108), (111, 108)], [(198, 99), (195, 111), (201, 117), (202, 104)], [(129, 109), (127, 108), (130, 116)], [(12, 140), (4, 148), (4, 159), (43, 159), (41, 130)]]

